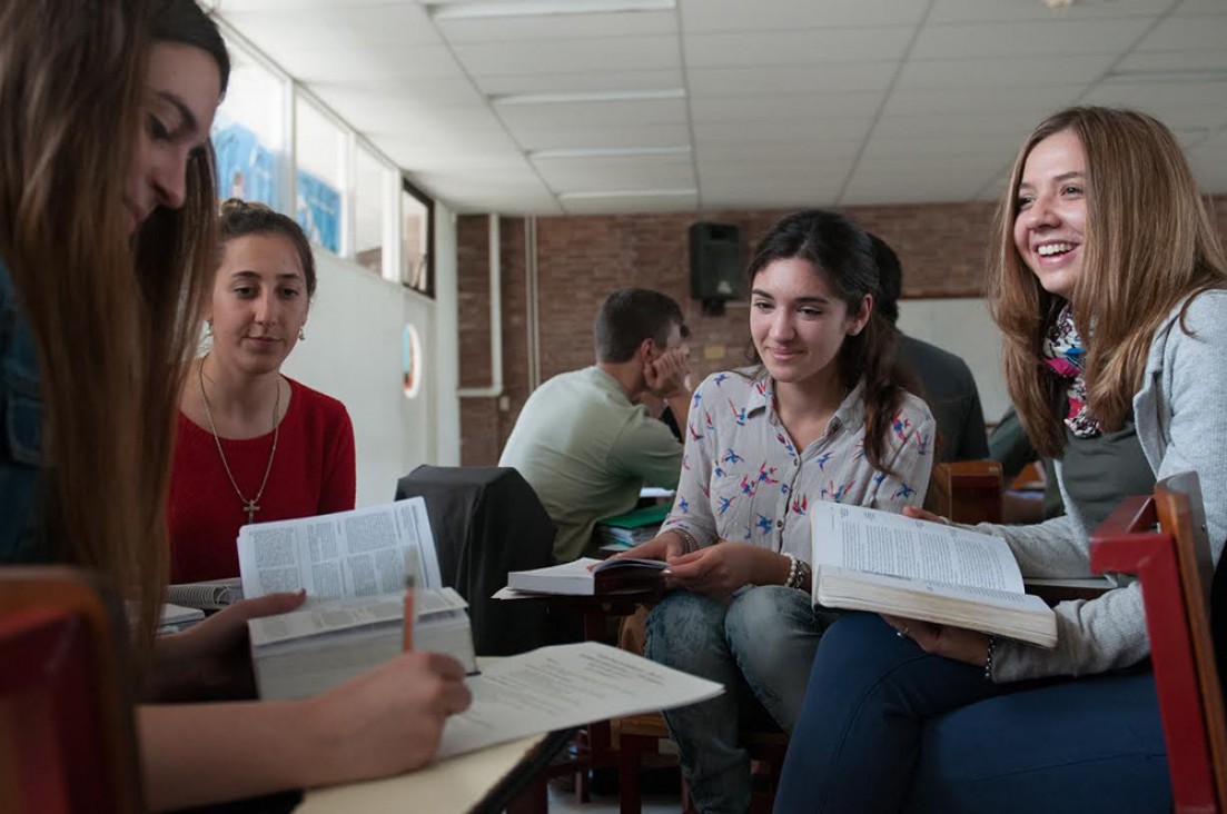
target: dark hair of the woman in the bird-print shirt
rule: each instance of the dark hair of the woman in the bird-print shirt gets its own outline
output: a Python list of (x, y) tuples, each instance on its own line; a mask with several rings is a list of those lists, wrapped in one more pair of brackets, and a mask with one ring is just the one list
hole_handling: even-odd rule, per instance
[[(896, 329), (879, 311), (881, 297), (874, 245), (852, 219), (836, 212), (807, 210), (777, 221), (755, 249), (747, 276), (755, 277), (777, 260), (805, 260), (848, 306), (860, 310), (865, 294), (875, 300), (865, 329), (844, 337), (836, 364), (840, 382), (853, 387), (865, 380), (865, 457), (880, 472), (886, 465), (886, 439), (891, 419), (903, 402), (903, 386), (894, 369)], [(761, 364), (751, 344), (751, 358)]]

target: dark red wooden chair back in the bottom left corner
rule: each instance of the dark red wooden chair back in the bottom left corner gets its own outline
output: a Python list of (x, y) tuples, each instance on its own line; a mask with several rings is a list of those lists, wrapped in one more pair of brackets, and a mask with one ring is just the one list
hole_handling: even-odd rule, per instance
[(0, 568), (0, 812), (144, 810), (126, 623), (88, 576)]

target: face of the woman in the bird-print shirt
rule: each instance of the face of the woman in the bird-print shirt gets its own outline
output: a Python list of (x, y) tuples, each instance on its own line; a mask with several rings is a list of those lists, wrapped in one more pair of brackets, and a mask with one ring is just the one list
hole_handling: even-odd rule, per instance
[(866, 294), (850, 313), (817, 270), (799, 257), (769, 262), (752, 288), (750, 333), (772, 378), (802, 386), (831, 381), (844, 338), (869, 321), (871, 298)]

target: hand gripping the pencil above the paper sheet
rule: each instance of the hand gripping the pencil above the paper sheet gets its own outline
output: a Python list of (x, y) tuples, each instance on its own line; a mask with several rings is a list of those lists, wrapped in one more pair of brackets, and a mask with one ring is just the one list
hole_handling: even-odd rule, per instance
[(433, 760), (448, 717), (472, 702), (464, 675), (450, 656), (415, 651), (303, 701), (321, 744), (307, 785), (385, 777)]

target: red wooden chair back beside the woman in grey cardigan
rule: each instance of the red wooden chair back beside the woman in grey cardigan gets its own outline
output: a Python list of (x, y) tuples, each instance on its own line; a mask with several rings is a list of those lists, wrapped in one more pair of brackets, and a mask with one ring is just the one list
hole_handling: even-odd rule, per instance
[(1141, 581), (1175, 810), (1227, 810), (1227, 720), (1210, 630), (1214, 568), (1196, 474), (1167, 478), (1153, 498), (1118, 506), (1091, 537), (1091, 568)]

